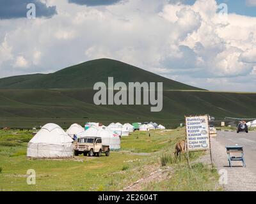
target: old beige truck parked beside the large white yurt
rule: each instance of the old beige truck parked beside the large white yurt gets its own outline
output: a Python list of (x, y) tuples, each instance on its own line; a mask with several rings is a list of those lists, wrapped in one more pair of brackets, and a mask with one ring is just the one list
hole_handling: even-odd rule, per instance
[(84, 137), (79, 138), (75, 143), (74, 155), (79, 156), (83, 154), (84, 156), (98, 156), (100, 157), (102, 153), (109, 156), (109, 146), (102, 145), (102, 139), (100, 137)]

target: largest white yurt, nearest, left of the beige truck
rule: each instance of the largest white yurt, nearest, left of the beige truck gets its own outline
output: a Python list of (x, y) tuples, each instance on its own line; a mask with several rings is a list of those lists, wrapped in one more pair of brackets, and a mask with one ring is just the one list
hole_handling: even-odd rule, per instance
[(72, 142), (72, 138), (60, 126), (49, 123), (29, 141), (27, 157), (47, 159), (73, 157)]

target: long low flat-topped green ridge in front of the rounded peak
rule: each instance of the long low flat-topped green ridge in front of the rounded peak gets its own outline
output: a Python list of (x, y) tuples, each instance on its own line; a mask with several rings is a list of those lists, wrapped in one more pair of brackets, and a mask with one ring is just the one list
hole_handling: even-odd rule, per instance
[(148, 105), (96, 106), (95, 91), (86, 89), (1, 90), (0, 126), (36, 126), (56, 122), (69, 126), (73, 122), (134, 122), (154, 120), (165, 126), (178, 126), (184, 115), (205, 114), (223, 119), (255, 117), (256, 94), (164, 91), (163, 110), (150, 112)]

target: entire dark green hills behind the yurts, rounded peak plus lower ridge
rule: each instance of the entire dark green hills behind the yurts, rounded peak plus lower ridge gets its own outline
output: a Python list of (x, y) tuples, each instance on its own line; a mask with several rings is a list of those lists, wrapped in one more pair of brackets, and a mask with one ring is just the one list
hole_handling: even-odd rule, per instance
[[(163, 110), (148, 105), (96, 106), (92, 90), (96, 82), (163, 82)], [(155, 121), (168, 128), (184, 122), (184, 115), (208, 113), (254, 118), (256, 94), (210, 92), (160, 77), (110, 59), (88, 61), (55, 73), (0, 79), (0, 127), (31, 128), (47, 122), (67, 127), (74, 122)]]

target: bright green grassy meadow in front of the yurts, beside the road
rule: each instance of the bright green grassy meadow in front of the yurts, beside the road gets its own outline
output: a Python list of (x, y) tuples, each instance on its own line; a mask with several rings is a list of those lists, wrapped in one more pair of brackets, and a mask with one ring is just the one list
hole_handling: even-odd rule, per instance
[[(122, 149), (109, 157), (63, 160), (28, 160), (26, 147), (31, 131), (0, 131), (0, 191), (119, 191), (143, 179), (140, 191), (218, 190), (218, 173), (200, 162), (202, 152), (173, 157), (175, 143), (184, 138), (184, 129), (136, 131), (122, 138)], [(28, 185), (26, 174), (36, 171), (36, 185)], [(152, 172), (160, 172), (150, 179)], [(147, 179), (148, 178), (148, 179)], [(160, 179), (159, 179), (160, 178)], [(162, 178), (162, 179), (161, 179)]]

